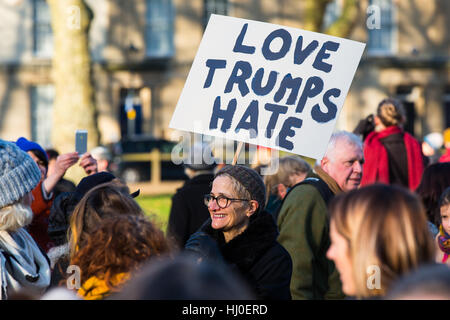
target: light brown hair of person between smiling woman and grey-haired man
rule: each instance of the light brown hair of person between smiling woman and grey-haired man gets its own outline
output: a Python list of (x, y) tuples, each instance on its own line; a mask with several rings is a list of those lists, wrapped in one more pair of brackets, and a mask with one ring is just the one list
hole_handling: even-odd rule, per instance
[(266, 185), (266, 203), (271, 195), (277, 194), (277, 186), (281, 183), (289, 186), (290, 177), (293, 174), (307, 173), (311, 170), (308, 162), (299, 156), (285, 156), (280, 159), (278, 170), (272, 175), (264, 176), (264, 184)]

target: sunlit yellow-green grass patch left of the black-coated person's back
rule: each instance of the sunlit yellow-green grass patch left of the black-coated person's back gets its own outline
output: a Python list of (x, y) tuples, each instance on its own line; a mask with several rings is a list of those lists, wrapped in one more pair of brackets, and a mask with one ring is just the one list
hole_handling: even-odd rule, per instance
[(169, 220), (170, 207), (172, 205), (172, 195), (144, 196), (136, 198), (137, 203), (144, 210), (145, 214), (166, 232)]

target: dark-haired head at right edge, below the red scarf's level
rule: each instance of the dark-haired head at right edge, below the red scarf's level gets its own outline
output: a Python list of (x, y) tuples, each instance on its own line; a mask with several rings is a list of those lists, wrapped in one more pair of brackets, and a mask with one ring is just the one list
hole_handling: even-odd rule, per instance
[(439, 197), (450, 186), (450, 162), (434, 163), (425, 168), (416, 189), (427, 212), (428, 220), (439, 225)]

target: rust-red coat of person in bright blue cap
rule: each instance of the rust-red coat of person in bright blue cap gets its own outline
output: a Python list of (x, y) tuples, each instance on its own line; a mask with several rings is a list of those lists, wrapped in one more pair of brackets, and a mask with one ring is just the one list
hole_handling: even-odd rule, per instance
[(42, 182), (43, 180), (41, 180), (33, 191), (31, 191), (34, 197), (34, 201), (31, 204), (33, 221), (27, 229), (37, 244), (45, 252), (48, 252), (48, 250), (54, 246), (52, 240), (48, 236), (48, 217), (50, 215), (50, 208), (54, 197), (52, 196), (50, 200), (44, 199), (44, 195), (42, 194)]

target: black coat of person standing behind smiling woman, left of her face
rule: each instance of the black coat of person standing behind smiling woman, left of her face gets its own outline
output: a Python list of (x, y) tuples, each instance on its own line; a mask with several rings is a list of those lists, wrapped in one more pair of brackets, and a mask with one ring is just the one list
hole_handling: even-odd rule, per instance
[(198, 175), (187, 180), (172, 197), (167, 230), (181, 248), (209, 218), (203, 196), (210, 193), (213, 180), (212, 173)]

